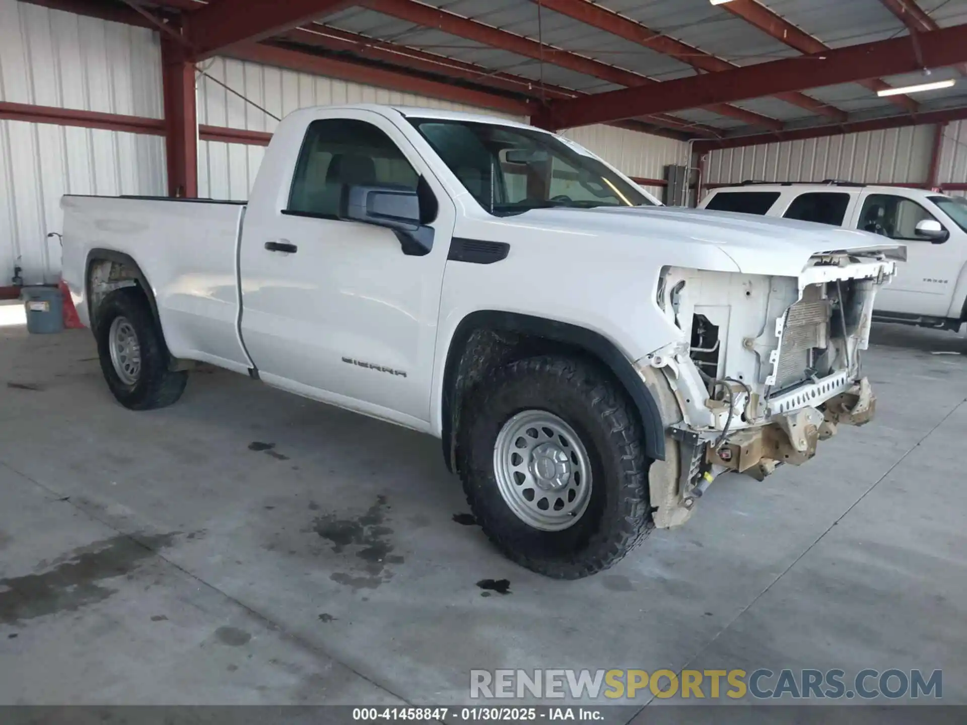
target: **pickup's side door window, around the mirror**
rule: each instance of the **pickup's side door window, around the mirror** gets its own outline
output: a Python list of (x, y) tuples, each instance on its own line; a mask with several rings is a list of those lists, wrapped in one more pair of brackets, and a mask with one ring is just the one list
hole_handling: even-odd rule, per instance
[(313, 121), (299, 152), (286, 212), (335, 219), (347, 185), (416, 191), (419, 180), (393, 140), (372, 124)]

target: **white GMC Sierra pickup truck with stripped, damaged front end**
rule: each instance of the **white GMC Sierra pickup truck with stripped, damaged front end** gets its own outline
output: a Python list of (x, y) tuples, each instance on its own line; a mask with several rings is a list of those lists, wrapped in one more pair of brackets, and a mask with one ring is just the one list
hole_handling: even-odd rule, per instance
[(484, 532), (558, 578), (800, 464), (902, 247), (659, 206), (571, 141), (359, 105), (281, 122), (248, 203), (65, 196), (64, 278), (132, 410), (196, 361), (442, 439)]

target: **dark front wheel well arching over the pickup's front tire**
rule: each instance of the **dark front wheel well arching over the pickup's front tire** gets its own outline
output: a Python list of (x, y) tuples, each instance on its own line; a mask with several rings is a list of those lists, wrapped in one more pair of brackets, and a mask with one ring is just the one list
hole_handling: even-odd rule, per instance
[(451, 472), (456, 467), (456, 435), (467, 392), (488, 370), (539, 355), (568, 355), (595, 362), (626, 391), (638, 414), (645, 454), (664, 458), (664, 425), (659, 406), (644, 381), (618, 348), (599, 333), (531, 315), (481, 311), (457, 326), (447, 353), (442, 397), (443, 455)]

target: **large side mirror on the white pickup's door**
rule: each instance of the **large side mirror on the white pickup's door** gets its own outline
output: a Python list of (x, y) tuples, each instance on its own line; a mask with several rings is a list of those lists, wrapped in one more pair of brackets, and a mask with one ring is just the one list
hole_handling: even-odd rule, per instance
[(408, 188), (346, 186), (339, 218), (392, 229), (404, 254), (423, 256), (433, 248), (433, 229), (420, 221), (420, 197)]

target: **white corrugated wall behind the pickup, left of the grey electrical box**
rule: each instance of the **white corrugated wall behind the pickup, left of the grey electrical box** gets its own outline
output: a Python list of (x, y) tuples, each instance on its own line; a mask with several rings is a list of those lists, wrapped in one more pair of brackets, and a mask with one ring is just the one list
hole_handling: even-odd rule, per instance
[[(493, 111), (332, 78), (218, 58), (207, 73), (281, 117), (308, 105), (386, 102)], [(161, 49), (146, 28), (0, 0), (0, 101), (162, 117)], [(500, 114), (498, 114), (500, 115)], [(198, 81), (201, 124), (273, 131), (277, 122), (209, 78)], [(526, 119), (519, 119), (526, 121)], [(661, 178), (684, 163), (687, 145), (610, 127), (566, 135), (630, 176)], [(265, 153), (241, 144), (199, 144), (199, 194), (241, 199)], [(164, 143), (159, 136), (0, 121), (0, 286), (15, 266), (27, 283), (52, 281), (60, 250), (63, 193), (162, 194)], [(660, 196), (660, 188), (649, 188)]]

